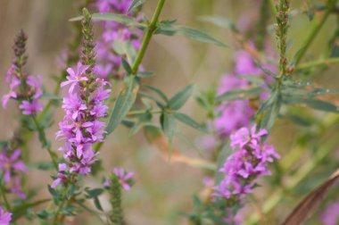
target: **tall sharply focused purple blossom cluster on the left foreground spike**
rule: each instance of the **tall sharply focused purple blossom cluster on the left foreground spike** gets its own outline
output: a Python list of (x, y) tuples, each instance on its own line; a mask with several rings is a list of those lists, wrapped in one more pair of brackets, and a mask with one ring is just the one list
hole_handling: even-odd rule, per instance
[(107, 88), (107, 81), (99, 78), (88, 84), (87, 69), (89, 66), (82, 63), (78, 63), (76, 70), (67, 69), (69, 76), (61, 84), (61, 87), (69, 86), (69, 91), (63, 98), (65, 116), (56, 137), (65, 139), (65, 146), (59, 150), (68, 163), (59, 164), (58, 177), (51, 187), (67, 179), (67, 174), (87, 175), (98, 154), (93, 144), (103, 141), (105, 123), (99, 119), (106, 115), (108, 107), (103, 100), (109, 97), (111, 89)]

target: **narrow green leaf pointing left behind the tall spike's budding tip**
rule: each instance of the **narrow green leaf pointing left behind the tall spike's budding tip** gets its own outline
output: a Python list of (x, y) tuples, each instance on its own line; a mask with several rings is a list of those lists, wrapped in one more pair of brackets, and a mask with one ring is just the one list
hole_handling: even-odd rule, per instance
[[(81, 21), (83, 16), (78, 16), (71, 18), (70, 21)], [(143, 23), (137, 22), (135, 19), (128, 17), (124, 14), (114, 14), (114, 13), (94, 13), (92, 14), (92, 19), (95, 21), (116, 21), (127, 26), (136, 26), (140, 29), (146, 29), (147, 26)]]

